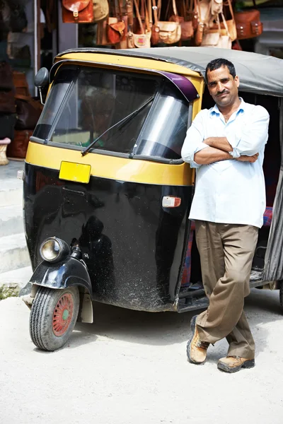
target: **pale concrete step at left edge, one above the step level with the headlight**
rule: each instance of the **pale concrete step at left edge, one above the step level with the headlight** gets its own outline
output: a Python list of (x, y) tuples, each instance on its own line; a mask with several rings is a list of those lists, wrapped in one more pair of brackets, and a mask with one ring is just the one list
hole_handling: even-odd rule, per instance
[(0, 237), (23, 232), (23, 206), (0, 207)]

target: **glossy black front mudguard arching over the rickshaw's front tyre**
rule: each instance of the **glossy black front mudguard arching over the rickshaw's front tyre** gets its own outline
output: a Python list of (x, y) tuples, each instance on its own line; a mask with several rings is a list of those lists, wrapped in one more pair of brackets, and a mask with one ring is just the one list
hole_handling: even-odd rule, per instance
[(42, 261), (29, 283), (20, 292), (20, 297), (31, 307), (38, 288), (62, 289), (76, 285), (80, 293), (79, 322), (93, 322), (91, 278), (86, 266), (79, 259), (67, 257), (63, 261), (50, 263)]

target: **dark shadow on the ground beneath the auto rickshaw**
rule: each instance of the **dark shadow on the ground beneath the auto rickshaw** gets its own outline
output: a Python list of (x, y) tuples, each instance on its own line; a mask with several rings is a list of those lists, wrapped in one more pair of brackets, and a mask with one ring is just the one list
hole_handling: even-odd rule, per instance
[[(140, 312), (98, 302), (93, 303), (93, 310), (93, 324), (76, 324), (68, 343), (70, 347), (90, 343), (96, 336), (155, 346), (183, 343), (190, 337), (190, 319), (194, 314), (201, 312)], [(282, 319), (279, 292), (253, 289), (246, 299), (245, 311), (257, 352), (260, 352), (265, 349), (269, 333), (265, 324)]]

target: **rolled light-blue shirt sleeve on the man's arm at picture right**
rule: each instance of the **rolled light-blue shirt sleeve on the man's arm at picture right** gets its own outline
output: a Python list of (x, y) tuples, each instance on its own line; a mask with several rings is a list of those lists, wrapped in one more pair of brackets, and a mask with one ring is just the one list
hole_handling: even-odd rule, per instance
[(226, 139), (233, 147), (230, 155), (239, 158), (241, 155), (253, 156), (258, 153), (267, 142), (269, 122), (267, 110), (262, 106), (255, 106), (250, 122), (246, 122), (233, 134), (226, 134)]

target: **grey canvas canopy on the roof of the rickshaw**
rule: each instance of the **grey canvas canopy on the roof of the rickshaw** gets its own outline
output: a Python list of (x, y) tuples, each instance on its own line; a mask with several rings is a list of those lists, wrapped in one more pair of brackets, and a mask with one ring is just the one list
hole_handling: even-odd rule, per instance
[(223, 57), (235, 65), (236, 73), (240, 78), (240, 90), (283, 97), (283, 60), (263, 54), (209, 47), (156, 47), (127, 50), (86, 47), (66, 50), (57, 57), (71, 52), (122, 54), (123, 56), (168, 61), (200, 72), (202, 76), (204, 76), (205, 67), (209, 61)]

